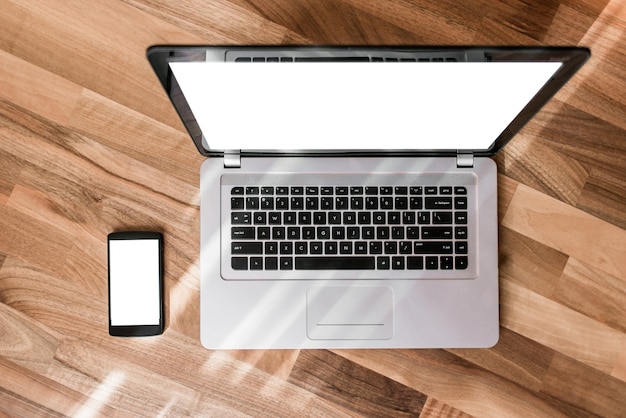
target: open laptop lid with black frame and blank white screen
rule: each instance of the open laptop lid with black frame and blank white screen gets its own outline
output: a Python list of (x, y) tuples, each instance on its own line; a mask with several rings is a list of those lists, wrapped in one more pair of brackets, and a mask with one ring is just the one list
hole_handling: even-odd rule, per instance
[(487, 156), (589, 54), (569, 47), (155, 46), (148, 59), (205, 156)]

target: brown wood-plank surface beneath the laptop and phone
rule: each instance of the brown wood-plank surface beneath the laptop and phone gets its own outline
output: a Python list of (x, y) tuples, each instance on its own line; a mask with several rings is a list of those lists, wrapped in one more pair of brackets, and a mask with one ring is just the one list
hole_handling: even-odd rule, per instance
[[(496, 157), (485, 350), (199, 342), (201, 156), (153, 44), (584, 45)], [(0, 0), (0, 415), (626, 416), (624, 0)], [(164, 232), (167, 330), (107, 334), (106, 234)]]

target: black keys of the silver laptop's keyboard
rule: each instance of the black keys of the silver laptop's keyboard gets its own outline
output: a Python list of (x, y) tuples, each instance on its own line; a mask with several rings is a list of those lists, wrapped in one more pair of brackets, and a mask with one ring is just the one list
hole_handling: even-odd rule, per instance
[(466, 186), (231, 186), (235, 271), (468, 269)]

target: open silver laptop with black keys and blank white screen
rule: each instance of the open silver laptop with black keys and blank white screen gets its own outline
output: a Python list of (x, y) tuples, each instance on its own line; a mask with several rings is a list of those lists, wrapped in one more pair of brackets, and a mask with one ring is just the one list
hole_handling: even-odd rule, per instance
[(576, 47), (154, 46), (198, 152), (209, 349), (490, 347), (490, 158)]

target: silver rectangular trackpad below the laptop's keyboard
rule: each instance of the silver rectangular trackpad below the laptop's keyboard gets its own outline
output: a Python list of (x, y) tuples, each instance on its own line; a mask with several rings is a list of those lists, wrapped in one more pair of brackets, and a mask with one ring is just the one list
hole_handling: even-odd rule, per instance
[(313, 286), (307, 291), (312, 340), (388, 340), (393, 291), (388, 286)]

